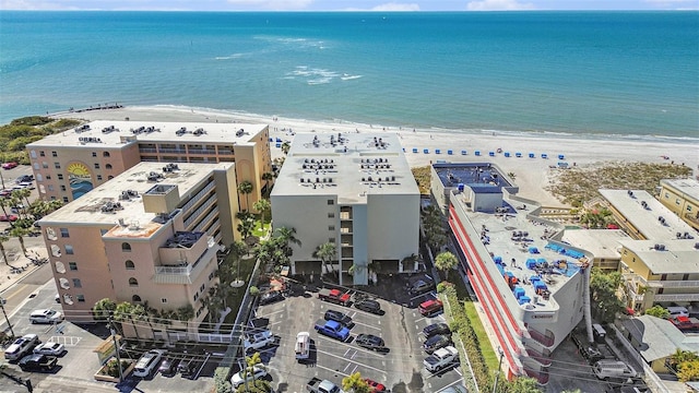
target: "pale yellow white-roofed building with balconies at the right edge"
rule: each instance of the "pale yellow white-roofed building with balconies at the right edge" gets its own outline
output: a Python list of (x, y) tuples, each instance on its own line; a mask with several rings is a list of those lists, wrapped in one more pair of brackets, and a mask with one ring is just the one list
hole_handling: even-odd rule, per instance
[(697, 231), (643, 190), (600, 190), (631, 239), (619, 241), (627, 306), (699, 305)]

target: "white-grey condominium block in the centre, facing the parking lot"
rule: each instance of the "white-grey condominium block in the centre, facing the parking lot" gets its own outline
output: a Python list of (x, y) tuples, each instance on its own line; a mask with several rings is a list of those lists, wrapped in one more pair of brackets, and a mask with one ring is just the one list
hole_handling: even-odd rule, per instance
[(301, 241), (292, 245), (292, 273), (321, 273), (315, 251), (331, 242), (337, 254), (327, 270), (352, 273), (355, 285), (417, 269), (419, 201), (393, 134), (296, 134), (271, 194), (274, 228)]

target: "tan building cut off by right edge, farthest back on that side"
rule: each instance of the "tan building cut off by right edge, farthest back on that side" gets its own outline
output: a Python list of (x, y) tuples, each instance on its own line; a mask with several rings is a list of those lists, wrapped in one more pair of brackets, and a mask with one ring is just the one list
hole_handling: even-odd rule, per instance
[(699, 181), (663, 179), (659, 200), (689, 226), (699, 230)]

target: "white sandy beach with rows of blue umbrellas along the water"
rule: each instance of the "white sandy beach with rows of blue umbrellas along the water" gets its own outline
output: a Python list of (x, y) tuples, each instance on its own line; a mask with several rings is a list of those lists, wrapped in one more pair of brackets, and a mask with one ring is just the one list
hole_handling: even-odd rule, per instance
[[(371, 132), (398, 134), (411, 167), (426, 166), (438, 160), (452, 163), (489, 162), (505, 172), (516, 176), (520, 196), (540, 201), (543, 205), (560, 206), (561, 203), (546, 190), (550, 176), (560, 169), (550, 166), (559, 162), (569, 166), (587, 166), (603, 162), (644, 162), (684, 164), (699, 174), (699, 144), (665, 142), (663, 140), (609, 140), (579, 139), (564, 135), (510, 134), (497, 131), (460, 131), (436, 129), (406, 129), (382, 124), (362, 124), (347, 121), (322, 122), (282, 117), (263, 117), (218, 110), (170, 106), (129, 106), (120, 109), (102, 109), (83, 112), (55, 114), (55, 117), (70, 117), (85, 120), (132, 121), (202, 121), (265, 123), (270, 126), (270, 136), (275, 141), (293, 142), (301, 132)], [(417, 153), (413, 153), (417, 148)], [(424, 153), (427, 150), (428, 153)], [(437, 154), (437, 150), (440, 154)], [(448, 151), (452, 151), (449, 155)], [(466, 155), (462, 155), (466, 151)], [(479, 151), (481, 156), (475, 152)], [(500, 152), (501, 153), (497, 153)], [(494, 152), (495, 156), (489, 156)], [(509, 153), (509, 157), (506, 156)], [(521, 157), (517, 156), (521, 154)], [(530, 153), (534, 154), (531, 158)], [(546, 154), (548, 158), (542, 158)], [(272, 143), (272, 157), (281, 157), (281, 148)], [(564, 158), (559, 159), (558, 156)]]

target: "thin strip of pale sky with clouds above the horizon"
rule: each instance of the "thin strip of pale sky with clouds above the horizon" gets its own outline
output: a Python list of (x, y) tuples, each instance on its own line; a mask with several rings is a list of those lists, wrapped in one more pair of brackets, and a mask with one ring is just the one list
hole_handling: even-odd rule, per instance
[(699, 0), (0, 0), (46, 11), (554, 11), (699, 10)]

